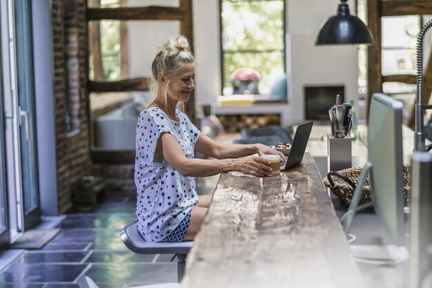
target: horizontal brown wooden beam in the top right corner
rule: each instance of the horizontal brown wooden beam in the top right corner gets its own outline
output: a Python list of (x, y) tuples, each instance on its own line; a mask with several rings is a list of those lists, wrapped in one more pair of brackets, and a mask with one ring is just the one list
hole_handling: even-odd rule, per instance
[[(381, 1), (382, 16), (431, 15), (432, 1)], [(369, 9), (369, 12), (371, 10)]]

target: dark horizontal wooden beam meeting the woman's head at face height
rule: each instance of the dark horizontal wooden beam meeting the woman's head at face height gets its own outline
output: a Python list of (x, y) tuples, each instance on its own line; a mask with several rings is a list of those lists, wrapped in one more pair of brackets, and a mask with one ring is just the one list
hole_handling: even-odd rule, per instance
[(120, 81), (88, 81), (88, 92), (124, 92), (124, 91), (149, 91), (152, 79), (135, 78)]

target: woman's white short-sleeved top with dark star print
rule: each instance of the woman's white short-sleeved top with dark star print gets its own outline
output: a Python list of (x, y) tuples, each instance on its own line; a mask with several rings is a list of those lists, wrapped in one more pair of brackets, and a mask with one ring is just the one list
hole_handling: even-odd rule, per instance
[(146, 241), (164, 240), (198, 202), (195, 177), (182, 176), (165, 159), (153, 161), (157, 140), (164, 132), (176, 137), (186, 157), (194, 156), (199, 131), (184, 113), (176, 109), (175, 115), (178, 122), (160, 108), (149, 107), (137, 123), (137, 217), (138, 230)]

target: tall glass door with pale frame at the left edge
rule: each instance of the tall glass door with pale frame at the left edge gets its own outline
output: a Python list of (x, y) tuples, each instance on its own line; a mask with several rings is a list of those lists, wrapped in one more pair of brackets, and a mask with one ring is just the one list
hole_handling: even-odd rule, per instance
[(30, 12), (30, 1), (0, 1), (3, 137), (8, 163), (3, 165), (3, 177), (7, 179), (10, 242), (35, 226), (41, 215)]

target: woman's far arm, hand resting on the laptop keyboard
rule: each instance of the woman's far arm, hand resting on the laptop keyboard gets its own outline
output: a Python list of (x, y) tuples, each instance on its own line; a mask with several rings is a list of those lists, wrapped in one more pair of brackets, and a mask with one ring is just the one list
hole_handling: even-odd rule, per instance
[(280, 155), (283, 161), (286, 160), (283, 153), (263, 144), (218, 144), (204, 133), (199, 133), (195, 149), (216, 159), (237, 158), (258, 153), (258, 155)]

